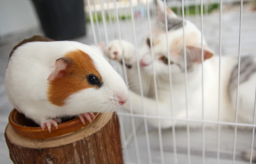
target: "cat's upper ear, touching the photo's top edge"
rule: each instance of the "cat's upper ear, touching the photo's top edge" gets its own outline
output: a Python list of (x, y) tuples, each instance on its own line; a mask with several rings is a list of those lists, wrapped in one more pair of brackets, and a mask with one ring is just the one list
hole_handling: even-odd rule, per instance
[[(157, 18), (164, 21), (165, 16), (164, 16), (164, 1), (163, 0), (156, 0), (157, 6), (158, 6), (158, 11), (157, 11)], [(167, 18), (172, 18), (172, 17), (177, 17), (177, 15), (166, 6), (166, 15)]]

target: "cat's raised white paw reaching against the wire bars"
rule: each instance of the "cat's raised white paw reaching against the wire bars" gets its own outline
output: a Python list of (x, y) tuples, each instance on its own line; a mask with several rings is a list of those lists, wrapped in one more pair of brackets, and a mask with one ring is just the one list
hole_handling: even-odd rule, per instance
[(124, 56), (126, 66), (135, 63), (134, 46), (128, 41), (122, 40), (121, 44), (119, 40), (111, 41), (104, 49), (104, 53), (110, 59), (120, 63), (122, 63), (122, 56)]

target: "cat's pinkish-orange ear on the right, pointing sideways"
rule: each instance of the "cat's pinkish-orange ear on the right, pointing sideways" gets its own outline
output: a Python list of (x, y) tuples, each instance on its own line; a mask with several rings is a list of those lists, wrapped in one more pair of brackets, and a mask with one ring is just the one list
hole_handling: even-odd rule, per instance
[[(201, 44), (196, 45), (187, 45), (188, 53), (190, 55), (190, 58), (192, 59), (192, 62), (195, 63), (201, 63), (202, 62), (202, 47)], [(211, 58), (214, 53), (213, 51), (207, 46), (203, 45), (203, 53), (204, 53), (204, 60)]]

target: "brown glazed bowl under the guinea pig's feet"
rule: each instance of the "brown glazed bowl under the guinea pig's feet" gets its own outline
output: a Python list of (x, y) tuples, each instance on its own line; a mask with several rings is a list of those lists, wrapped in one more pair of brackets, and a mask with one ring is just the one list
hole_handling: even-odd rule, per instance
[[(97, 115), (97, 113), (94, 114)], [(100, 114), (96, 116), (96, 118), (99, 116)], [(42, 130), (40, 126), (26, 118), (25, 115), (20, 114), (16, 109), (13, 109), (9, 115), (9, 123), (13, 130), (23, 137), (33, 139), (55, 138), (75, 132), (90, 124), (88, 120), (84, 120), (85, 124), (83, 124), (78, 117), (64, 120), (63, 123), (58, 124), (58, 129), (52, 126), (50, 133), (47, 128)]]

